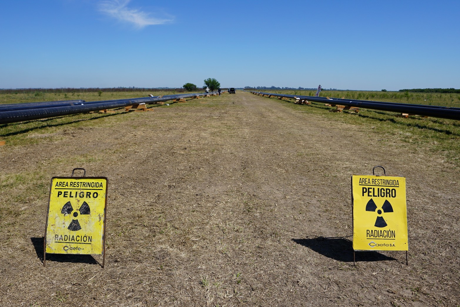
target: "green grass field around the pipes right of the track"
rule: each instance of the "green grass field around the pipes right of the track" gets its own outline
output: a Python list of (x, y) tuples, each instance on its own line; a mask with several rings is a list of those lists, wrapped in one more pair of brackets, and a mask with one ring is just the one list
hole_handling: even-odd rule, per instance
[[(290, 94), (312, 96), (316, 92), (308, 90), (278, 90), (274, 94)], [(374, 100), (386, 102), (403, 102), (433, 106), (460, 107), (457, 94), (422, 94), (409, 93), (409, 99), (401, 92), (364, 92), (364, 91), (322, 91), (322, 97), (350, 98), (359, 100)], [(428, 99), (427, 99), (428, 98)], [(269, 98), (267, 98), (269, 99)], [(282, 101), (273, 99), (274, 101)], [(311, 105), (296, 105), (292, 101), (283, 101), (300, 112), (322, 114), (328, 120), (336, 120), (347, 124), (359, 125), (363, 129), (379, 132), (382, 138), (375, 142), (402, 140), (418, 144), (421, 150), (428, 150), (433, 155), (442, 156), (449, 161), (455, 161), (460, 166), (460, 122), (443, 118), (397, 117), (395, 112), (385, 112), (361, 108), (355, 112), (331, 112), (335, 108), (323, 103), (312, 102)], [(329, 111), (329, 112), (328, 112)], [(353, 137), (353, 136), (350, 136)]]

